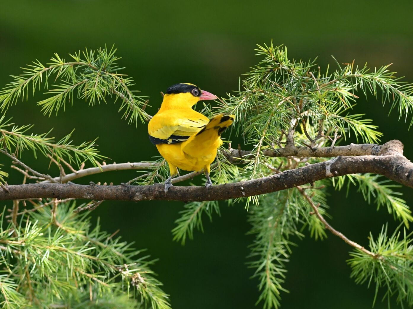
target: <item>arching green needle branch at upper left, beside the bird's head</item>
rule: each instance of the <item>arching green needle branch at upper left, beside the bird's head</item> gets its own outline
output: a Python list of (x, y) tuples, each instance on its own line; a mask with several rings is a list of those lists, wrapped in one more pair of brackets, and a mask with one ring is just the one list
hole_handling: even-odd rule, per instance
[[(28, 68), (23, 68), (24, 72), (18, 76), (12, 75), (14, 81), (6, 85), (0, 91), (0, 108), (5, 112), (9, 106), (17, 104), (21, 98), (28, 101), (29, 85), (32, 85), (33, 96), (36, 89), (43, 85), (51, 96), (39, 101), (37, 104), (42, 107), (45, 114), (51, 115), (66, 108), (66, 103), (73, 104), (75, 91), (77, 98), (84, 99), (89, 105), (95, 105), (100, 101), (106, 102), (108, 96), (115, 96), (115, 102), (121, 99), (119, 112), (123, 112), (123, 118), (128, 118), (129, 123), (138, 120), (145, 122), (150, 119), (144, 107), (147, 100), (130, 90), (133, 80), (124, 74), (119, 74), (122, 70), (117, 65), (120, 59), (115, 56), (116, 49), (98, 49), (96, 52), (87, 49), (70, 55), (74, 61), (65, 61), (58, 54), (50, 59), (51, 63), (44, 66), (36, 60)], [(83, 56), (83, 57), (82, 57)], [(49, 89), (49, 78), (55, 75), (54, 88)]]

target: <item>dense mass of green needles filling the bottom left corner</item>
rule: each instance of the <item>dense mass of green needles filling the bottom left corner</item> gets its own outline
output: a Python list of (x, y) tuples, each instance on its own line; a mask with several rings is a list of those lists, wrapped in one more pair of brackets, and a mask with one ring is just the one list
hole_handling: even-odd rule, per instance
[(169, 308), (142, 250), (92, 227), (74, 201), (36, 207), (0, 227), (2, 308)]

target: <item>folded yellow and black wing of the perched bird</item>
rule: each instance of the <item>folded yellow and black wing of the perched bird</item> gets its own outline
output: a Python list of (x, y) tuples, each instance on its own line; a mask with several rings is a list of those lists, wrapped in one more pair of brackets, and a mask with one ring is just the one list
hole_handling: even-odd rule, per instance
[(158, 113), (148, 124), (149, 138), (155, 145), (180, 143), (201, 131), (208, 122), (207, 117), (194, 110)]

